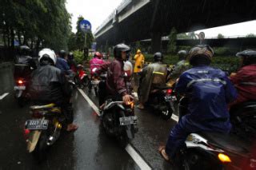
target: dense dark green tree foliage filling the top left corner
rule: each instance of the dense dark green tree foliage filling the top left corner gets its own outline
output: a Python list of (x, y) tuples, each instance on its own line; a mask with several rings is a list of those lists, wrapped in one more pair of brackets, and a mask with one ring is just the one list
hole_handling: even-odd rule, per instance
[[(70, 34), (70, 14), (66, 0), (2, 0), (0, 30), (5, 45), (14, 45), (14, 34), (20, 44), (39, 48), (66, 49)], [(21, 41), (21, 37), (24, 41)]]

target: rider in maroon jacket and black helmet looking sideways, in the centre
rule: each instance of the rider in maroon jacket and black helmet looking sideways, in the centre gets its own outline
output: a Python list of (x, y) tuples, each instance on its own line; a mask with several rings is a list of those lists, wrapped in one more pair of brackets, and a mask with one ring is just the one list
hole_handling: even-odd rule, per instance
[(106, 76), (106, 99), (107, 96), (122, 97), (122, 101), (130, 102), (133, 97), (130, 96), (126, 87), (124, 61), (130, 56), (130, 47), (125, 44), (114, 46), (114, 61), (106, 62), (98, 68), (96, 73), (107, 72)]

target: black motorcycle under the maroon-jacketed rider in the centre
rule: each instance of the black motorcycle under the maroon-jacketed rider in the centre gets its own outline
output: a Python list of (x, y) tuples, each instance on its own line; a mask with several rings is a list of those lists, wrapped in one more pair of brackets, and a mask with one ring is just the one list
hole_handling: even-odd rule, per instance
[(138, 132), (138, 117), (134, 116), (134, 101), (125, 104), (112, 98), (105, 101), (102, 110), (102, 125), (108, 136), (114, 136), (122, 146)]

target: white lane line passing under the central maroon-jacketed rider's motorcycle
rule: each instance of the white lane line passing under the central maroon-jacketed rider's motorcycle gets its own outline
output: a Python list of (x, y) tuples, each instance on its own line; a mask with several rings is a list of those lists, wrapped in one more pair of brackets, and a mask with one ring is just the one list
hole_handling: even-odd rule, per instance
[[(93, 101), (90, 100), (90, 97), (88, 97), (86, 95), (86, 93), (84, 93), (84, 91), (82, 91), (82, 89), (78, 89), (78, 91), (82, 94), (82, 97), (85, 98), (85, 100), (89, 103), (89, 105), (92, 107), (92, 109), (94, 109), (95, 113), (97, 113), (98, 116), (99, 116), (100, 113), (98, 111), (98, 107), (94, 104)], [(136, 152), (135, 149), (130, 144), (127, 144), (126, 152), (128, 152), (128, 154), (131, 156), (131, 158), (134, 160), (134, 162), (136, 162), (136, 164), (138, 164), (139, 168), (141, 168), (142, 170), (144, 170), (144, 169), (145, 170), (151, 169), (150, 165), (148, 165), (146, 163), (146, 161), (143, 160), (142, 156), (140, 156), (138, 154), (138, 152)]]

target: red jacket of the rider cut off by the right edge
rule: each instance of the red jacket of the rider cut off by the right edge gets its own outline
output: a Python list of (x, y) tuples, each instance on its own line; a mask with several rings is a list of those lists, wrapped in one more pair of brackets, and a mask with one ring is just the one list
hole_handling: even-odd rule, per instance
[(256, 64), (242, 67), (230, 80), (238, 89), (236, 104), (256, 100)]

